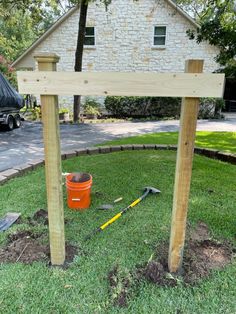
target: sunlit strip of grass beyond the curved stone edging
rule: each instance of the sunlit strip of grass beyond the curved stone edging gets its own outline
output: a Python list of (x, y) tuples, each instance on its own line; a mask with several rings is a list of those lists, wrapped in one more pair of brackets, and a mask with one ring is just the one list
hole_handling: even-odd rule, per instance
[[(159, 132), (109, 141), (103, 145), (170, 144), (176, 145), (178, 132)], [(236, 132), (197, 132), (195, 146), (236, 153)]]

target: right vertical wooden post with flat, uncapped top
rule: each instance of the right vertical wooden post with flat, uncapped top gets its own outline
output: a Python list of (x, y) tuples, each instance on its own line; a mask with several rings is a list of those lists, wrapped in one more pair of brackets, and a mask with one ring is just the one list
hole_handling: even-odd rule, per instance
[[(203, 60), (186, 61), (185, 72), (202, 71)], [(182, 266), (198, 109), (198, 98), (183, 98), (168, 258), (169, 271), (173, 273), (179, 272)]]

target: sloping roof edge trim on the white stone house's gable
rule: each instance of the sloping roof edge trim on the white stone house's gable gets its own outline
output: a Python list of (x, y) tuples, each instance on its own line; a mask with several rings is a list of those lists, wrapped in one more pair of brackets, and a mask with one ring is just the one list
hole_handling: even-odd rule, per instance
[[(165, 0), (172, 8), (174, 8), (180, 15), (187, 19), (195, 28), (198, 28), (199, 25), (196, 21), (183, 11), (173, 0)], [(12, 66), (15, 67), (18, 62), (20, 62), (28, 53), (34, 50), (44, 39), (46, 39), (57, 27), (59, 27), (66, 19), (68, 19), (76, 10), (78, 6), (71, 8), (65, 14), (63, 14), (42, 36), (40, 36), (33, 44), (26, 49), (13, 63)]]

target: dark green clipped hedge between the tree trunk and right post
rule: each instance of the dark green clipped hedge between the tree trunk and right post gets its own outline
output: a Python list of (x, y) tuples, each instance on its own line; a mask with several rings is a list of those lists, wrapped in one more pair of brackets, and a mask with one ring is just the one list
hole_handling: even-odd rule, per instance
[(106, 110), (113, 116), (179, 117), (180, 98), (171, 97), (111, 97), (105, 99)]

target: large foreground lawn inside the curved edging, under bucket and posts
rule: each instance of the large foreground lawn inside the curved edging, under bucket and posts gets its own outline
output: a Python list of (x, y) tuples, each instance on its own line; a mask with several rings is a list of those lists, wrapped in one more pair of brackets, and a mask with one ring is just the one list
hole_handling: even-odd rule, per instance
[[(170, 138), (168, 134), (165, 136)], [(132, 271), (150, 258), (158, 243), (169, 238), (175, 159), (173, 151), (125, 151), (63, 161), (63, 171), (89, 172), (94, 180), (92, 206), (84, 213), (67, 208), (64, 189), (66, 239), (79, 246), (78, 256), (66, 270), (50, 268), (42, 262), (1, 264), (0, 312), (236, 313), (235, 262), (214, 271), (195, 286), (180, 284), (165, 288), (142, 281), (133, 288), (128, 308), (112, 305), (108, 272), (115, 265)], [(104, 232), (84, 241), (90, 231), (130, 204), (147, 185), (162, 193), (148, 196)], [(123, 201), (115, 209), (96, 210), (99, 204), (120, 196)], [(196, 155), (188, 215), (190, 224), (194, 226), (203, 221), (212, 236), (228, 239), (235, 245), (235, 203), (235, 166)], [(16, 230), (31, 229), (47, 234), (46, 226), (27, 224), (27, 217), (46, 207), (43, 167), (1, 186), (0, 216), (16, 211), (21, 212), (23, 218), (23, 224), (0, 233), (1, 246), (6, 243), (7, 235)]]

